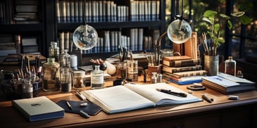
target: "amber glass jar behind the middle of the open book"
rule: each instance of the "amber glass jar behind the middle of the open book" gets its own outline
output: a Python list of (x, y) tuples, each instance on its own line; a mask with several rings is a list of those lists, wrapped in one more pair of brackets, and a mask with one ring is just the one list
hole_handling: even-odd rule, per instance
[(127, 79), (130, 79), (132, 82), (138, 81), (137, 60), (127, 60)]

